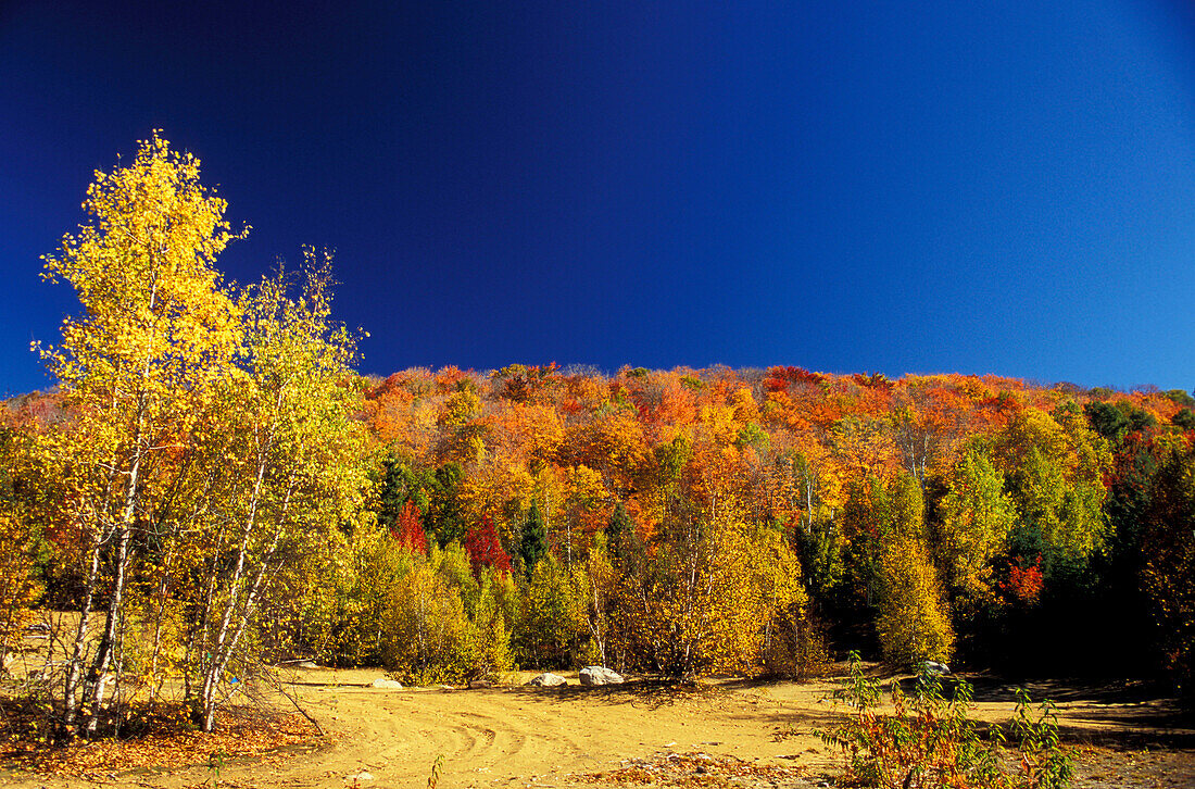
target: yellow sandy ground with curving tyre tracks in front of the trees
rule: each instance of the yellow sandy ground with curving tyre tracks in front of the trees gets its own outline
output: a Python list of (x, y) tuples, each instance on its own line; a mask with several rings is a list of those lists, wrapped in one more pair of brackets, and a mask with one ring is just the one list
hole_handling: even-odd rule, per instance
[[(378, 671), (296, 672), (304, 705), (329, 732), (266, 758), (84, 778), (0, 770), (0, 785), (289, 788), (425, 787), (442, 756), (439, 789), (485, 787), (828, 785), (840, 759), (815, 735), (841, 708), (831, 681), (725, 680), (679, 691), (642, 683), (583, 689), (382, 690)], [(529, 674), (514, 678), (525, 680)], [(1140, 686), (1054, 683), (1031, 690), (1060, 702), (1078, 748), (1076, 787), (1195, 787), (1195, 732)], [(1006, 721), (1011, 687), (976, 678), (980, 717)]]

